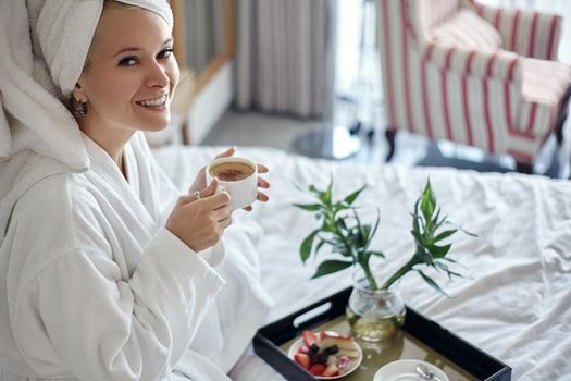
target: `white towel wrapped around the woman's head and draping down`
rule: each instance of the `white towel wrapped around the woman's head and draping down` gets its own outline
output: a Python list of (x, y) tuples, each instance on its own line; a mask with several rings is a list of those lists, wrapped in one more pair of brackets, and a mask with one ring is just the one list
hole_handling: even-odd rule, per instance
[[(157, 13), (172, 29), (166, 0), (119, 2)], [(102, 9), (103, 0), (0, 0), (0, 243), (26, 186), (89, 168), (82, 132), (65, 105)], [(52, 172), (22, 179), (34, 153), (53, 159)]]

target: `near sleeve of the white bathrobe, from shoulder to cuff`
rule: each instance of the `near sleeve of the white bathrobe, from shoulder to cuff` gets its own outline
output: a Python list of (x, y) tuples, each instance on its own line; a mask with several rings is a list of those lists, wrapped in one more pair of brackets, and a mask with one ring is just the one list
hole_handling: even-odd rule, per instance
[(140, 251), (135, 238), (120, 244), (137, 222), (107, 221), (114, 214), (101, 214), (86, 186), (66, 193), (62, 183), (42, 181), (22, 197), (4, 242), (18, 353), (46, 377), (160, 380), (188, 349), (224, 280), (164, 228)]

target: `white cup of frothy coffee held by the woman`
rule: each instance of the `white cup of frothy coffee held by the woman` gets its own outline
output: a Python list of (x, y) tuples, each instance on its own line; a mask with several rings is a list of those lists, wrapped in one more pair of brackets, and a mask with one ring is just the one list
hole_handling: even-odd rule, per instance
[(207, 165), (207, 182), (219, 180), (219, 190), (226, 190), (231, 198), (231, 209), (241, 209), (251, 205), (258, 197), (258, 165), (245, 158), (220, 158)]

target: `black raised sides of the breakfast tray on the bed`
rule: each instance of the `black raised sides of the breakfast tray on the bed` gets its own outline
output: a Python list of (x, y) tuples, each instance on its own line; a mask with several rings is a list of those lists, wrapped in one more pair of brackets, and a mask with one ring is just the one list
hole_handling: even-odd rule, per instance
[[(311, 330), (345, 314), (351, 287), (316, 302), (297, 312), (294, 312), (274, 323), (258, 330), (253, 337), (253, 349), (269, 365), (275, 368), (287, 380), (316, 380), (306, 369), (290, 360), (281, 345), (296, 339), (303, 330)], [(328, 308), (327, 308), (328, 307)], [(323, 310), (299, 323), (299, 318), (311, 315), (311, 311)], [(407, 306), (404, 334), (425, 345), (431, 351), (442, 355), (470, 379), (485, 381), (510, 381), (511, 368), (432, 320)]]

